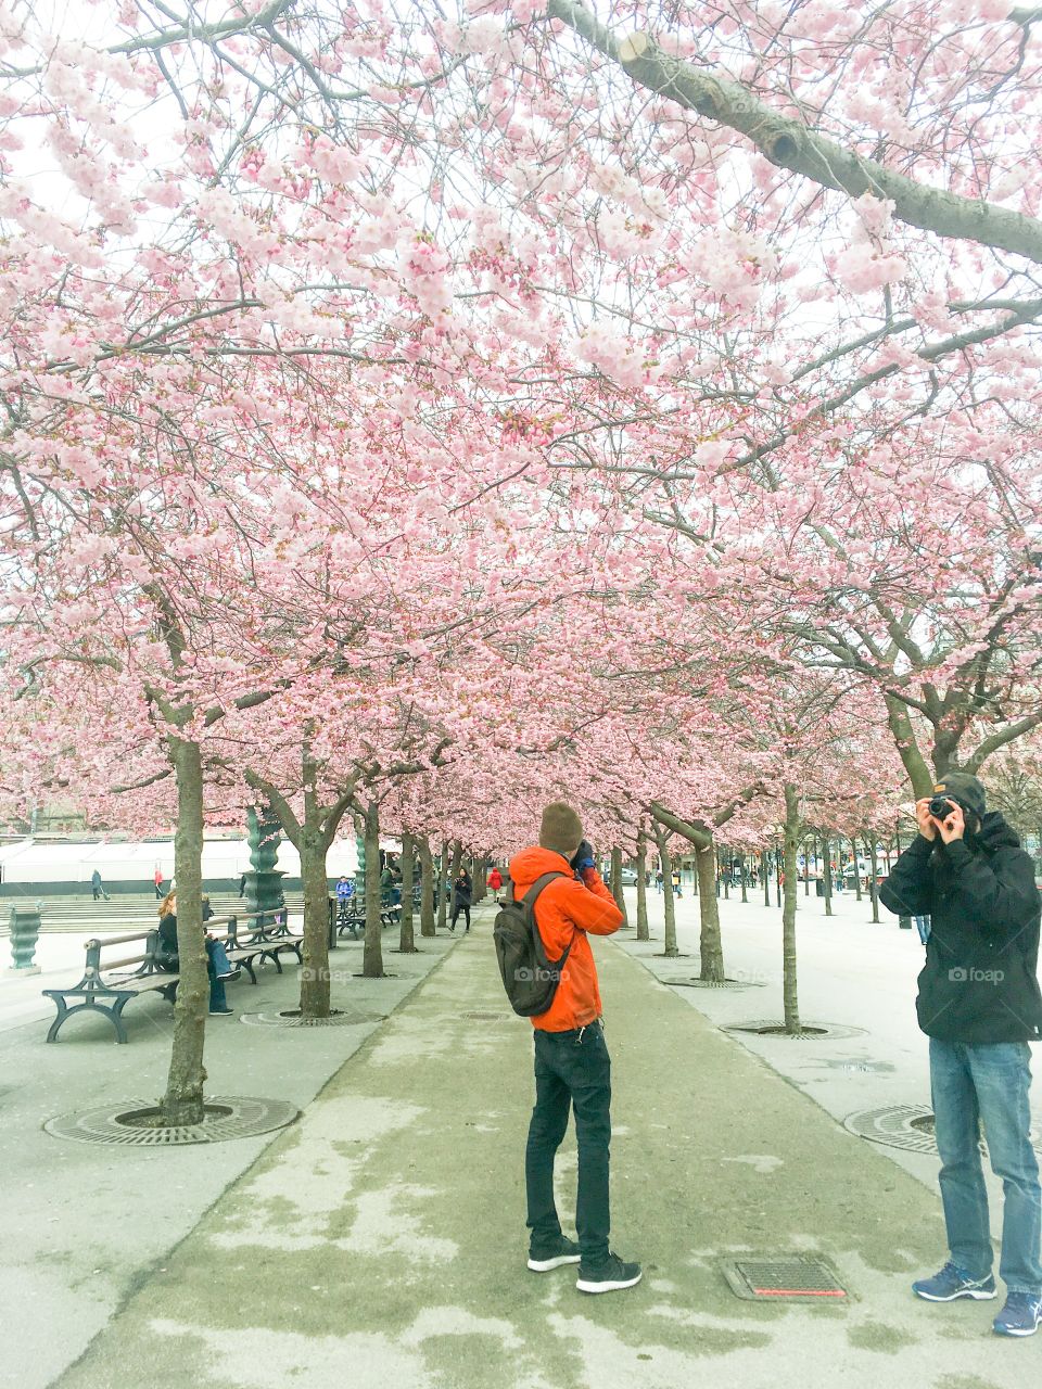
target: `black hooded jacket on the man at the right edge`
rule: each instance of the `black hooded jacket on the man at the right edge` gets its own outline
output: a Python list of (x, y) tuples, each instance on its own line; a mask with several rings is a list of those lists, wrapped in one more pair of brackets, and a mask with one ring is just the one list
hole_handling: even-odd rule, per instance
[(931, 918), (916, 999), (928, 1036), (1042, 1040), (1035, 868), (998, 811), (966, 840), (917, 835), (879, 897), (891, 911)]

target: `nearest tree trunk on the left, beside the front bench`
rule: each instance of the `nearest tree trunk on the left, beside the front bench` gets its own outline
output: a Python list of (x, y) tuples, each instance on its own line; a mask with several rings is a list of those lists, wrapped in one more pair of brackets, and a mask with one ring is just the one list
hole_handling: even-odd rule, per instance
[(178, 960), (181, 982), (174, 1007), (174, 1049), (167, 1093), (160, 1103), (164, 1124), (203, 1122), (203, 1047), (210, 1007), (210, 979), (203, 945), (203, 761), (199, 743), (169, 733), (169, 760), (178, 785), (178, 829), (174, 878), (178, 886)]

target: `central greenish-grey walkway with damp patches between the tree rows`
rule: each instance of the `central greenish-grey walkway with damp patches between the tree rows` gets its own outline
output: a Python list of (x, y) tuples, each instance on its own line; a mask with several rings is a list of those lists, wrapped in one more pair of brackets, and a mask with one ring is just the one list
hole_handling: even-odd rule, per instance
[[(910, 1295), (943, 1251), (936, 1197), (610, 943), (613, 1243), (645, 1282), (590, 1299), (574, 1270), (529, 1274), (531, 1029), (477, 920), (61, 1389), (1021, 1389), (1038, 1374), (1038, 1342), (991, 1335), (995, 1304)], [(574, 1175), (570, 1146), (563, 1214)], [(811, 1250), (847, 1306), (741, 1301), (717, 1267)]]

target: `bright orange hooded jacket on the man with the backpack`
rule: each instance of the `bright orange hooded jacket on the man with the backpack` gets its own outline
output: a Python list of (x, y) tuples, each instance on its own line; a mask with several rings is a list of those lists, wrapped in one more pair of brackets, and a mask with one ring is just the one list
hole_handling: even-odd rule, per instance
[(543, 888), (535, 904), (535, 924), (550, 960), (560, 960), (570, 945), (571, 954), (553, 1003), (546, 1013), (532, 1018), (532, 1026), (543, 1032), (568, 1032), (600, 1017), (597, 967), (586, 932), (610, 936), (622, 925), (622, 913), (596, 868), (588, 868), (579, 882), (563, 854), (538, 846), (522, 849), (510, 860), (515, 899), (520, 901), (545, 872), (563, 872), (567, 878), (554, 878)]

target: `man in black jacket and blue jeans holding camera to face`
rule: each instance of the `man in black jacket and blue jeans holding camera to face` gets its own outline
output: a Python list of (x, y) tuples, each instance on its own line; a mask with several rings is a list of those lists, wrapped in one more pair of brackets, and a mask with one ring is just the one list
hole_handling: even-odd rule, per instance
[[(931, 815), (931, 799), (945, 800)], [(942, 808), (935, 806), (935, 808)], [(1031, 1146), (1028, 1042), (1042, 1040), (1039, 895), (1031, 858), (984, 786), (966, 772), (916, 803), (918, 836), (879, 896), (891, 911), (931, 917), (916, 1011), (929, 1036), (929, 1083), (950, 1258), (914, 1282), (928, 1301), (995, 1297), (984, 1124), (1004, 1193), (999, 1272), (1007, 1300), (993, 1326), (1031, 1336), (1042, 1321), (1042, 1189)]]

